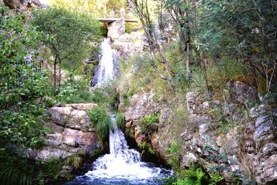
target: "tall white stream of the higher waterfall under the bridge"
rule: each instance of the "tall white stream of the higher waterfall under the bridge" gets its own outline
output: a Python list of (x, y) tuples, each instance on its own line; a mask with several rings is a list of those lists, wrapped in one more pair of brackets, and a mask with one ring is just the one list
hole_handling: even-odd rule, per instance
[(111, 49), (110, 39), (105, 38), (101, 43), (101, 55), (102, 58), (99, 62), (99, 69), (97, 73), (97, 84), (96, 87), (102, 87), (116, 77), (114, 70), (114, 49)]

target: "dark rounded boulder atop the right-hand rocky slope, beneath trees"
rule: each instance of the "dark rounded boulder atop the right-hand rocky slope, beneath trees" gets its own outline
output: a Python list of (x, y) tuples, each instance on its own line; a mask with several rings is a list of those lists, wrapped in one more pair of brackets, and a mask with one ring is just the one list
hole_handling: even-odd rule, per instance
[(247, 85), (244, 82), (231, 82), (231, 99), (237, 103), (248, 103), (253, 100), (258, 100), (257, 89), (253, 86)]

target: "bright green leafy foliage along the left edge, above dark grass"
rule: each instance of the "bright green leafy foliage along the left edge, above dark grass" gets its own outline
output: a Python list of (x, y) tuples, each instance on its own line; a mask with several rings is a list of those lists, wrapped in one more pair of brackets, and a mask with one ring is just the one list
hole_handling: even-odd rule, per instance
[(30, 60), (36, 60), (41, 34), (24, 26), (25, 15), (8, 15), (2, 6), (0, 12), (0, 146), (39, 147), (46, 132), (40, 120), (48, 104), (43, 102), (48, 77), (35, 72)]

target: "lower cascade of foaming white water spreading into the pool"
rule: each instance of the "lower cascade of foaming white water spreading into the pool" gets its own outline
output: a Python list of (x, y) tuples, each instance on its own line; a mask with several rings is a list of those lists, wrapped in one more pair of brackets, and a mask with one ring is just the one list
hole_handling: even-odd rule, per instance
[(141, 161), (139, 152), (129, 149), (125, 136), (116, 126), (109, 131), (110, 153), (93, 162), (93, 168), (69, 184), (161, 184), (157, 179), (172, 175), (171, 170)]

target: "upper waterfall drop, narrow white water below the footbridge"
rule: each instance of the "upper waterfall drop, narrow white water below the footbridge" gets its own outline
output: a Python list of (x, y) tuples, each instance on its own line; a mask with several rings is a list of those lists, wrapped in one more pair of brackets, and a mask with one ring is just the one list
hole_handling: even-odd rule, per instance
[(96, 76), (93, 77), (95, 87), (103, 87), (110, 80), (119, 75), (118, 55), (114, 49), (111, 49), (111, 39), (105, 38), (100, 46), (100, 62)]

